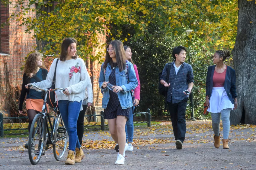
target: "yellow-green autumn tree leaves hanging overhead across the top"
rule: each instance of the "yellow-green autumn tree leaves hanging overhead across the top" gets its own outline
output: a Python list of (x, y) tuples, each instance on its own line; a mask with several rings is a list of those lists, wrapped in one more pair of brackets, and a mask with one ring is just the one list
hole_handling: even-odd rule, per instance
[[(182, 35), (186, 29), (193, 32), (186, 36), (187, 45), (203, 40), (207, 48), (232, 48), (237, 24), (237, 2), (232, 0), (2, 0), (14, 8), (11, 14), (26, 32), (37, 41), (47, 42), (45, 55), (58, 55), (63, 38), (78, 40), (78, 54), (82, 58), (101, 59), (104, 49), (98, 33), (124, 37), (123, 41), (149, 41), (154, 32), (150, 25), (165, 35)], [(52, 9), (47, 11), (46, 7)], [(35, 14), (33, 14), (35, 13)], [(111, 25), (117, 28), (113, 30)], [(124, 35), (123, 25), (130, 25), (133, 34)], [(120, 38), (116, 38), (120, 39)]]

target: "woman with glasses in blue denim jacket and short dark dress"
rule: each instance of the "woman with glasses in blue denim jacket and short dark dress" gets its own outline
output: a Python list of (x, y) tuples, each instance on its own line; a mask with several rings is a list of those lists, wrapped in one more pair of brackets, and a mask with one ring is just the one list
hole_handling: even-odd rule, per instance
[[(113, 86), (109, 86), (109, 83)], [(129, 119), (130, 108), (133, 107), (130, 91), (138, 86), (138, 80), (133, 64), (126, 61), (123, 44), (119, 40), (113, 40), (107, 46), (105, 62), (101, 65), (99, 86), (103, 93), (104, 118), (108, 119), (112, 138), (119, 144), (120, 154), (118, 153), (115, 164), (124, 164), (125, 150), (128, 148), (125, 124)]]

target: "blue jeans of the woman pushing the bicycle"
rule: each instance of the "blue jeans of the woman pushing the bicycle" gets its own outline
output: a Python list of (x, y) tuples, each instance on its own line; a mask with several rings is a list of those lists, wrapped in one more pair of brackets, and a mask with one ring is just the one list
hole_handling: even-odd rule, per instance
[(76, 147), (81, 147), (77, 136), (76, 123), (79, 116), (82, 101), (72, 102), (68, 100), (60, 100), (58, 101), (58, 103), (62, 120), (69, 134), (69, 150), (75, 151)]

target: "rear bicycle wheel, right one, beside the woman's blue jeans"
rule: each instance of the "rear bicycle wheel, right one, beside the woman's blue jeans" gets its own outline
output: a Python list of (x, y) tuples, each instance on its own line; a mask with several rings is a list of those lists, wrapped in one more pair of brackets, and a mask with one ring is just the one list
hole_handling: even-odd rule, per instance
[(62, 159), (68, 143), (68, 132), (59, 116), (56, 118), (54, 124), (53, 141), (55, 143), (53, 144), (53, 155), (59, 161)]

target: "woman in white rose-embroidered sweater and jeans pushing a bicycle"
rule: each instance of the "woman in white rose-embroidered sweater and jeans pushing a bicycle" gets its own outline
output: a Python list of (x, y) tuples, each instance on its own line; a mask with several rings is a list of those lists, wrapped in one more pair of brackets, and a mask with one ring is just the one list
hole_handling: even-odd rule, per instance
[[(69, 134), (69, 151), (65, 162), (67, 165), (74, 165), (76, 160), (81, 160), (84, 156), (78, 140), (76, 124), (79, 112), (83, 110), (82, 101), (85, 97), (85, 88), (91, 82), (84, 60), (77, 56), (76, 45), (77, 42), (74, 38), (66, 38), (61, 44), (60, 57), (53, 60), (46, 80), (33, 83), (41, 89), (50, 88), (56, 67), (55, 86), (65, 89), (63, 93), (68, 96), (66, 98), (61, 93), (56, 93), (59, 111)], [(35, 89), (35, 87), (32, 88)], [(57, 98), (55, 96), (55, 102), (57, 102)]]

